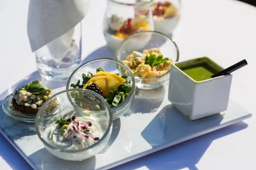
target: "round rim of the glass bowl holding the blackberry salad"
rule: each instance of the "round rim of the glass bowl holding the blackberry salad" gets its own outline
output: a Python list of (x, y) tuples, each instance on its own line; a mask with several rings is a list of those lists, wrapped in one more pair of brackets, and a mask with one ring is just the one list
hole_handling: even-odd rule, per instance
[[(118, 59), (112, 59), (112, 58), (98, 58), (98, 59), (92, 59), (90, 61), (87, 61), (87, 62), (84, 62), (83, 64), (81, 64), (78, 68), (76, 68), (76, 70), (73, 71), (73, 73), (70, 75), (70, 77), (68, 78), (67, 80), (67, 86), (66, 86), (66, 89), (70, 89), (69, 88), (69, 84), (71, 82), (71, 79), (72, 77), (74, 76), (74, 74), (76, 74), (76, 72), (79, 71), (80, 68), (82, 68), (84, 65), (87, 65), (91, 62), (95, 62), (95, 61), (100, 61), (100, 60), (110, 60), (110, 61), (113, 61), (113, 62), (118, 62), (120, 65), (124, 66), (128, 72), (131, 74), (131, 79), (132, 79), (132, 83), (131, 83), (131, 91), (128, 95), (128, 97), (125, 99), (125, 102), (122, 102), (120, 105), (117, 105), (116, 107), (114, 108), (111, 108), (111, 111), (115, 112), (116, 110), (118, 110), (120, 107), (122, 107), (123, 105), (126, 104), (127, 101), (129, 101), (132, 97), (132, 94), (134, 93), (134, 90), (135, 90), (135, 77), (134, 77), (134, 74), (132, 73), (131, 71), (131, 68), (128, 67), (128, 65), (126, 65), (125, 63), (119, 61)], [(74, 89), (74, 88), (71, 88), (71, 89)], [(77, 88), (76, 88), (77, 89)], [(95, 111), (95, 112), (92, 112), (94, 114), (97, 114), (99, 113), (100, 114), (100, 111)]]

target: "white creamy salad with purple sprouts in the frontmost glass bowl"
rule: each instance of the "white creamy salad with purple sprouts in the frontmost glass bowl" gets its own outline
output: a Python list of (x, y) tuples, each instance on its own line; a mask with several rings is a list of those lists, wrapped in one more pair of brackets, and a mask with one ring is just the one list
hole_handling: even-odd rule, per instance
[(102, 128), (92, 117), (58, 119), (45, 130), (45, 139), (62, 150), (80, 150), (102, 138)]

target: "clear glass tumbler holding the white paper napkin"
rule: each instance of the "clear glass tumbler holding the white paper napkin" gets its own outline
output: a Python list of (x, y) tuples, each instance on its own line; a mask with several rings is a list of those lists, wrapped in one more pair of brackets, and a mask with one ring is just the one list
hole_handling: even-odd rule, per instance
[(47, 81), (64, 81), (81, 63), (81, 22), (35, 51), (40, 76)]

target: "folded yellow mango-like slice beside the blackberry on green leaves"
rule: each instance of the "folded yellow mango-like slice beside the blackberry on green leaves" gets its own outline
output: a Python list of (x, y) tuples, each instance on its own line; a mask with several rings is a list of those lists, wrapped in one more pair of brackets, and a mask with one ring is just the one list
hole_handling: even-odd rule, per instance
[(83, 88), (86, 88), (92, 83), (99, 85), (99, 88), (102, 90), (102, 96), (106, 96), (111, 93), (112, 88), (118, 88), (119, 85), (125, 82), (125, 79), (122, 77), (111, 74), (109, 72), (99, 71), (93, 75), (92, 78), (84, 85)]

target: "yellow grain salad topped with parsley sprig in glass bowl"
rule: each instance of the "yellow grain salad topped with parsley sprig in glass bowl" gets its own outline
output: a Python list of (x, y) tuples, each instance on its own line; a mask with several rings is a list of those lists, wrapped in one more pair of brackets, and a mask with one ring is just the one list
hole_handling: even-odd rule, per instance
[(143, 53), (133, 51), (122, 62), (131, 68), (134, 76), (151, 78), (161, 76), (169, 71), (173, 61), (164, 58), (159, 48), (151, 48), (143, 50)]

